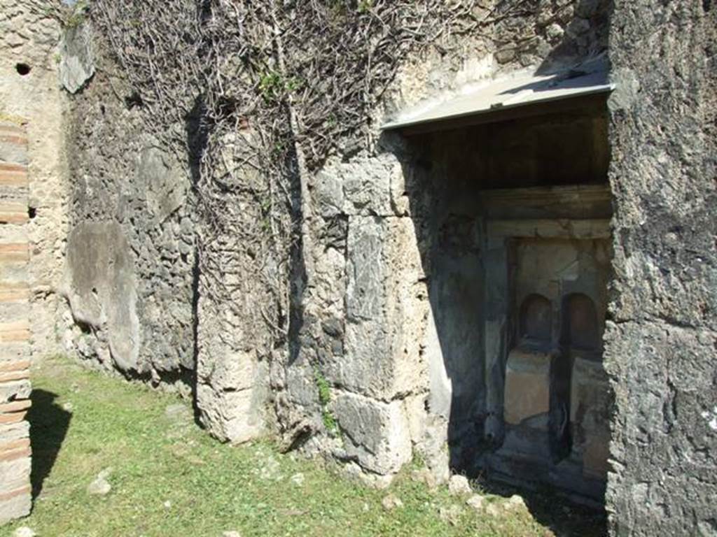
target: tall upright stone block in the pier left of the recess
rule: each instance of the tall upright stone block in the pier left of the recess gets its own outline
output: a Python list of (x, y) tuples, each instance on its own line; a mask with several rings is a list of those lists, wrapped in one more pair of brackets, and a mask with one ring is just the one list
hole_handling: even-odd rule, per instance
[(346, 339), (326, 377), (380, 400), (422, 382), (420, 344), (427, 291), (414, 224), (409, 218), (349, 219)]

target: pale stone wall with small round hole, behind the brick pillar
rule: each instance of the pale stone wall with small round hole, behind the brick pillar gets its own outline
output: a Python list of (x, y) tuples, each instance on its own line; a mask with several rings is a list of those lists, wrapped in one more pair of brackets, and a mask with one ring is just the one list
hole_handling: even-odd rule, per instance
[(0, 0), (0, 118), (27, 120), (29, 300), (33, 357), (60, 352), (58, 317), (67, 241), (67, 165), (57, 83), (57, 21), (28, 2)]

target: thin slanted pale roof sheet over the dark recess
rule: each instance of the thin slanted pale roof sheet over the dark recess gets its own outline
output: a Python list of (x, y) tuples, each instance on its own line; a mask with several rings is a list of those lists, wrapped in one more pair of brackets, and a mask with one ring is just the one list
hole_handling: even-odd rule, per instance
[(604, 61), (593, 61), (556, 74), (516, 74), (494, 79), (470, 91), (433, 102), (418, 110), (399, 115), (384, 124), (384, 130), (452, 120), (540, 102), (563, 100), (614, 89), (608, 80)]

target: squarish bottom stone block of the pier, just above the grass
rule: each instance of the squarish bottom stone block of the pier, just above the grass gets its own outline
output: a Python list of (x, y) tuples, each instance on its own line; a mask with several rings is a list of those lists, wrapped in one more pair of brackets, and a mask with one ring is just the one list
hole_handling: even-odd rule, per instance
[(410, 430), (402, 402), (390, 403), (340, 392), (332, 408), (345, 439), (346, 453), (361, 468), (396, 473), (412, 457)]

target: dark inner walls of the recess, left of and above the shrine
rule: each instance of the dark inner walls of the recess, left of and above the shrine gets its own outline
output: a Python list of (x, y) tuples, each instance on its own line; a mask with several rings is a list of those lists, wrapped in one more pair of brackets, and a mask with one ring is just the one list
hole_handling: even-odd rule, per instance
[[(587, 107), (523, 120), (488, 123), (410, 137), (415, 159), (412, 218), (427, 271), (429, 301), (450, 379), (450, 394), (433, 393), (432, 412), (449, 421), (451, 465), (476, 470), (486, 420), (485, 218), (609, 218), (609, 202), (514, 208), (486, 200), (484, 190), (605, 183), (604, 97)], [(532, 211), (532, 212), (531, 212)], [(506, 290), (507, 291), (507, 290)], [(495, 296), (500, 295), (500, 293)], [(502, 296), (502, 295), (500, 295)], [(498, 300), (505, 300), (506, 297)], [(445, 391), (440, 384), (437, 390)], [(447, 404), (450, 402), (450, 405)]]

